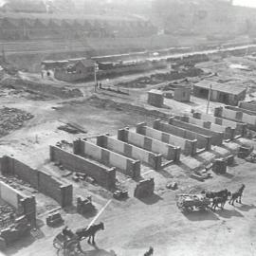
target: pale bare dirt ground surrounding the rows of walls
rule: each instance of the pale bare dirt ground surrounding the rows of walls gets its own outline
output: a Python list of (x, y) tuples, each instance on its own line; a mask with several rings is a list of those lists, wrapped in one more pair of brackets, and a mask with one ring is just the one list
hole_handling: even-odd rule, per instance
[[(241, 60), (229, 59), (226, 63), (240, 64)], [(200, 67), (207, 68), (209, 65), (210, 63), (201, 64)], [(220, 68), (220, 65), (216, 66)], [(214, 71), (216, 67), (210, 68)], [(222, 68), (219, 72), (227, 69), (227, 64), (223, 64)], [(244, 82), (256, 78), (252, 72), (248, 79), (247, 72), (239, 70), (232, 73), (232, 77), (239, 76), (240, 81)], [(30, 79), (32, 78), (33, 75), (30, 76)], [(235, 158), (235, 165), (229, 167), (225, 175), (212, 174), (212, 178), (205, 182), (189, 177), (192, 170), (203, 168), (213, 158), (235, 153), (241, 143), (256, 146), (253, 140), (240, 138), (225, 143), (223, 147), (213, 147), (210, 152), (203, 152), (195, 157), (182, 156), (181, 163), (169, 165), (159, 172), (143, 166), (142, 176), (155, 178), (155, 194), (144, 200), (134, 198), (136, 182), (121, 174), (118, 174), (118, 180), (128, 189), (130, 195), (126, 201), (113, 199), (110, 192), (99, 186), (82, 181), (76, 183), (71, 177), (62, 177), (62, 172), (49, 163), (49, 145), (61, 140), (72, 142), (77, 137), (96, 137), (104, 133), (117, 135), (119, 128), (133, 128), (142, 121), (151, 123), (155, 116), (149, 111), (159, 111), (146, 104), (146, 93), (150, 87), (142, 90), (133, 89), (131, 96), (125, 98), (117, 95), (114, 97), (112, 94), (95, 94), (91, 83), (88, 83), (87, 87), (84, 85), (86, 84), (75, 85), (83, 87), (84, 95), (76, 100), (35, 101), (17, 95), (14, 97), (11, 94), (9, 97), (0, 98), (0, 108), (17, 108), (33, 115), (33, 119), (26, 120), (18, 130), (0, 138), (0, 156), (13, 155), (33, 168), (43, 169), (60, 179), (68, 180), (74, 186), (75, 196), (92, 195), (98, 212), (109, 203), (96, 221), (102, 221), (105, 226), (105, 229), (97, 234), (97, 245), (92, 247), (83, 241), (84, 253), (81, 255), (137, 256), (143, 255), (150, 246), (154, 247), (154, 255), (158, 256), (256, 255), (255, 164)], [(133, 110), (129, 107), (123, 108), (123, 104), (128, 106), (128, 103), (144, 107), (148, 111), (142, 113), (136, 111), (136, 107)], [(170, 108), (160, 111), (170, 115), (190, 112), (192, 108), (205, 111), (207, 101), (192, 97), (192, 101), (187, 104), (173, 100), (166, 100), (165, 104)], [(217, 105), (220, 104), (210, 102), (210, 112)], [(87, 133), (73, 135), (58, 129), (67, 122), (80, 124)], [(166, 185), (169, 182), (177, 182), (178, 190), (168, 190)], [(203, 190), (219, 191), (225, 188), (235, 192), (242, 183), (246, 185), (243, 204), (235, 204), (234, 207), (227, 204), (225, 210), (215, 212), (207, 210), (187, 214), (176, 207), (176, 194), (198, 193)], [(3, 255), (56, 255), (56, 250), (52, 246), (53, 238), (63, 227), (48, 228), (45, 223), (47, 210), (58, 206), (40, 193), (36, 197), (39, 229), (9, 247)], [(86, 227), (95, 218), (95, 215), (90, 214), (82, 216), (72, 208), (61, 212), (65, 224), (71, 229)]]

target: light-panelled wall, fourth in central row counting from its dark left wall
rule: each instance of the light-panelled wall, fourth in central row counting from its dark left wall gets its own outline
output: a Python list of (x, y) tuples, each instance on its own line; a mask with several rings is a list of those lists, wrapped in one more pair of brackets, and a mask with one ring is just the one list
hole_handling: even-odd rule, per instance
[[(144, 122), (137, 124), (137, 127), (139, 125), (146, 126), (146, 123)], [(119, 139), (127, 143), (133, 144), (137, 147), (140, 147), (142, 149), (148, 150), (150, 152), (164, 155), (168, 160), (179, 161), (180, 159), (180, 147), (164, 143), (152, 137), (146, 137), (138, 133), (127, 131), (127, 133), (125, 133), (123, 137), (120, 137)]]

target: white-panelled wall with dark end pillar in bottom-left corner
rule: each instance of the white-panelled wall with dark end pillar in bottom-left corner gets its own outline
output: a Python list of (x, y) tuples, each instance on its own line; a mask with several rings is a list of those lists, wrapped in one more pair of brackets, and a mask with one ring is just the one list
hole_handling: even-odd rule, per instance
[(0, 198), (15, 208), (19, 216), (25, 215), (32, 226), (36, 223), (36, 201), (34, 196), (27, 196), (3, 181), (0, 181)]

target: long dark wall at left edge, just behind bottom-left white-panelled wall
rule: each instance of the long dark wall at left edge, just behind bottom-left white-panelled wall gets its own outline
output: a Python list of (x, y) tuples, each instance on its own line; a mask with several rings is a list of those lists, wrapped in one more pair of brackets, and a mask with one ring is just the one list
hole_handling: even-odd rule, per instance
[(31, 184), (39, 192), (55, 199), (62, 207), (72, 205), (73, 187), (65, 184), (45, 172), (31, 169), (15, 158), (4, 156), (1, 160), (2, 174), (17, 175)]

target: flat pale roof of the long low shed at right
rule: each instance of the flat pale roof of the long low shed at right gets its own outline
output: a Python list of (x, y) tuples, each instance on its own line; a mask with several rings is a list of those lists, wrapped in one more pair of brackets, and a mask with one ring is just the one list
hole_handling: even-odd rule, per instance
[(238, 95), (240, 93), (243, 93), (245, 90), (247, 90), (247, 86), (238, 84), (237, 82), (222, 83), (222, 82), (212, 82), (212, 81), (201, 81), (201, 82), (195, 83), (193, 86), (210, 89), (210, 84), (211, 84), (211, 90), (233, 94), (233, 95)]

